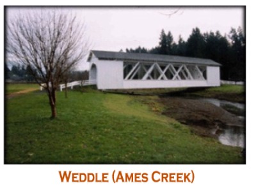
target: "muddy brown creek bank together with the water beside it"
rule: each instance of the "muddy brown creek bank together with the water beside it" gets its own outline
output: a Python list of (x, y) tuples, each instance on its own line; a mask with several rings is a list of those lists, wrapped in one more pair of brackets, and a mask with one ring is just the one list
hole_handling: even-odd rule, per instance
[(223, 145), (244, 147), (244, 109), (239, 114), (232, 109), (235, 112), (232, 114), (211, 100), (186, 97), (160, 97), (160, 100), (166, 106), (163, 115), (189, 125), (191, 132), (216, 138)]

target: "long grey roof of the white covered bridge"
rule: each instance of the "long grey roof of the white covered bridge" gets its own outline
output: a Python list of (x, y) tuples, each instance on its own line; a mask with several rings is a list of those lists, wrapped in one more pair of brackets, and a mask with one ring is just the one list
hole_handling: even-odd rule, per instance
[(91, 51), (88, 61), (95, 55), (99, 60), (132, 60), (132, 61), (149, 61), (164, 63), (184, 63), (184, 64), (200, 64), (221, 66), (220, 63), (209, 59), (191, 58), (184, 56), (172, 56), (163, 54), (133, 53), (133, 52), (113, 52), (113, 51)]

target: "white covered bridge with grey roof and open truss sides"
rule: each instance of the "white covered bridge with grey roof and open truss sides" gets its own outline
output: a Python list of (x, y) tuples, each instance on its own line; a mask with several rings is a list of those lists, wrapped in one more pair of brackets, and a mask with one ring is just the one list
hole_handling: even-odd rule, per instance
[(220, 63), (161, 54), (91, 51), (90, 82), (100, 90), (220, 86)]

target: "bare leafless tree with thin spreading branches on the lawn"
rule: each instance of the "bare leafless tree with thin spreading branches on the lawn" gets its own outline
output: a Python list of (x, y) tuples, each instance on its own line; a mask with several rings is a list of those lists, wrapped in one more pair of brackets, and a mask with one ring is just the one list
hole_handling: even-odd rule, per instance
[(65, 74), (83, 60), (88, 44), (83, 41), (84, 25), (75, 16), (54, 9), (36, 11), (7, 22), (7, 51), (43, 84), (55, 118), (56, 90)]

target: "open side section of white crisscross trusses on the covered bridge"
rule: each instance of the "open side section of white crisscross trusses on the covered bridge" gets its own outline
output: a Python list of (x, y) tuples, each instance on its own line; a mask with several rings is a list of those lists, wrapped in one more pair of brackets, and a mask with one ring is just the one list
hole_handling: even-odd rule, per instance
[(206, 80), (206, 67), (125, 61), (124, 80)]

